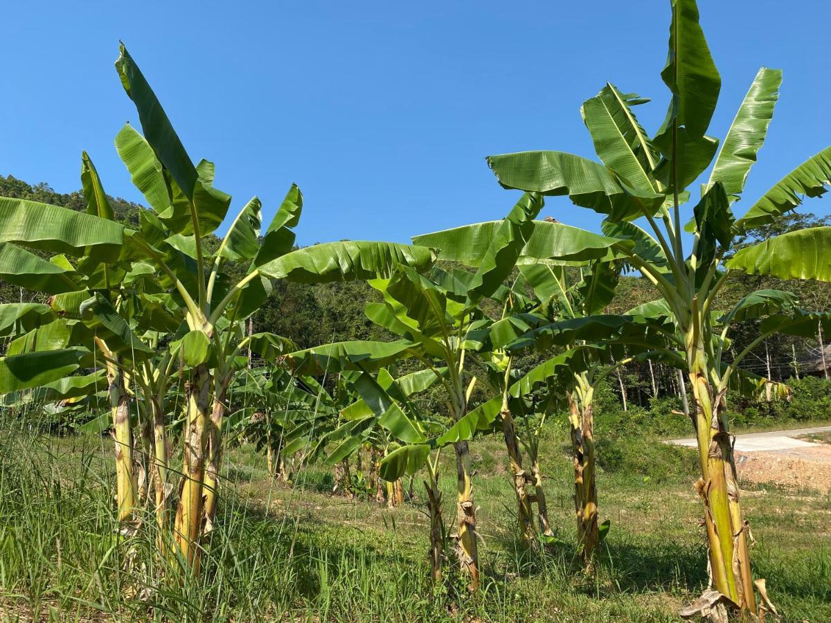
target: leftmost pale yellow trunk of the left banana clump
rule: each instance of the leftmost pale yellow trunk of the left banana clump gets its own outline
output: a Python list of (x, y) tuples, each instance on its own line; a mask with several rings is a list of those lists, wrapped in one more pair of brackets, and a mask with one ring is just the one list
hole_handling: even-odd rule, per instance
[(130, 398), (124, 382), (124, 373), (115, 365), (107, 364), (112, 409), (112, 437), (116, 443), (116, 501), (118, 521), (132, 522), (135, 518), (136, 483), (133, 469), (133, 429), (130, 426)]

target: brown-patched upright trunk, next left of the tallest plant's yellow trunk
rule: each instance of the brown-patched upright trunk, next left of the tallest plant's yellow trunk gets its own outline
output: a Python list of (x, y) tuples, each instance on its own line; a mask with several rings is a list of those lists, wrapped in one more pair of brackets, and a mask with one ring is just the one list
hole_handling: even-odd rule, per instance
[(574, 465), (574, 513), (577, 517), (580, 558), (591, 568), (600, 533), (597, 527), (597, 484), (595, 482), (593, 405), (578, 405), (568, 396)]

